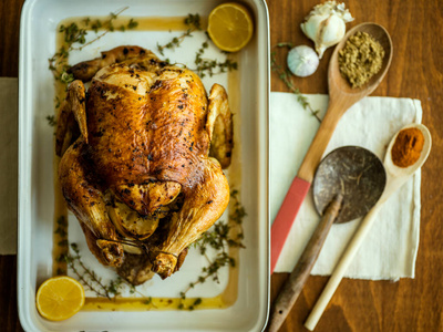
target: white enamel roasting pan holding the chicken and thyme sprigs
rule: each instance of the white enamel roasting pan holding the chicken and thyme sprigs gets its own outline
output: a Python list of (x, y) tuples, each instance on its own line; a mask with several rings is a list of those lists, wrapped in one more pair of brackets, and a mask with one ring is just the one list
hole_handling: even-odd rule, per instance
[[(52, 276), (52, 128), (47, 115), (53, 112), (53, 79), (48, 59), (55, 52), (55, 29), (71, 17), (107, 17), (110, 12), (130, 8), (124, 17), (176, 17), (199, 13), (207, 17), (222, 1), (206, 0), (28, 0), (22, 10), (19, 74), (19, 314), (27, 331), (260, 331), (266, 325), (269, 301), (269, 208), (268, 208), (268, 105), (269, 105), (269, 23), (265, 1), (249, 0), (256, 31), (239, 53), (239, 89), (241, 111), (239, 125), (241, 167), (240, 201), (248, 216), (244, 220), (246, 249), (240, 250), (239, 291), (234, 305), (223, 310), (84, 312), (63, 322), (49, 322), (35, 310), (35, 291)], [(104, 4), (105, 3), (105, 4)], [(100, 51), (122, 44), (136, 44), (155, 52), (156, 43), (167, 42), (178, 31), (126, 31), (107, 34), (82, 52), (72, 53), (71, 63), (92, 59)], [(192, 64), (205, 37), (195, 34), (177, 51), (165, 54), (172, 61)], [(216, 51), (208, 58), (220, 56)], [(175, 56), (175, 58), (174, 58)], [(189, 65), (190, 66), (190, 65)], [(227, 85), (227, 75), (205, 77)], [(82, 239), (78, 221), (70, 215), (70, 241)], [(84, 252), (84, 261), (96, 264), (99, 273), (110, 272)], [(192, 252), (183, 270), (162, 282), (148, 281), (143, 292), (152, 297), (178, 297), (178, 292), (197, 277), (202, 257)], [(226, 277), (226, 271), (222, 277)], [(213, 297), (226, 286), (205, 284), (189, 297)], [(241, 313), (241, 314), (239, 314)]]

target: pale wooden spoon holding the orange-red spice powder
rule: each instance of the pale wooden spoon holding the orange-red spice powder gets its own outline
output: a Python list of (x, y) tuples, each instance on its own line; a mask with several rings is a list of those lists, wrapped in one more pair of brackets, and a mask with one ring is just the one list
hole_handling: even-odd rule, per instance
[(375, 215), (383, 205), (384, 201), (388, 200), (388, 198), (396, 191), (414, 173), (418, 170), (426, 160), (430, 152), (431, 152), (431, 145), (432, 145), (432, 139), (431, 139), (431, 134), (427, 131), (427, 128), (422, 125), (422, 124), (411, 124), (402, 129), (405, 128), (419, 128), (424, 136), (424, 145), (423, 149), (421, 152), (419, 160), (416, 160), (413, 165), (409, 167), (398, 167), (393, 164), (392, 162), (392, 156), (391, 156), (391, 151), (392, 146), (395, 142), (395, 138), (398, 136), (396, 133), (394, 137), (392, 138), (391, 143), (388, 146), (387, 155), (384, 157), (384, 168), (387, 170), (387, 187), (384, 189), (383, 195), (381, 196), (380, 200), (375, 204), (375, 206), (369, 211), (369, 214), (364, 217), (363, 221), (361, 222), (359, 229), (356, 231), (353, 235), (351, 241), (349, 242), (344, 253), (340, 258), (340, 261), (336, 266), (331, 278), (329, 279), (323, 292), (321, 293), (320, 298), (318, 299), (316, 305), (312, 309), (312, 312), (308, 317), (308, 320), (305, 323), (305, 326), (312, 331), (318, 321), (320, 320), (321, 314), (323, 313), (326, 307), (328, 305), (329, 301), (331, 300), (333, 293), (336, 292), (338, 286), (341, 282), (341, 279), (343, 278), (343, 274), (349, 267), (349, 264), (352, 262), (353, 257), (356, 256), (358, 249), (360, 248), (360, 245), (363, 242), (365, 236), (368, 235), (369, 230), (371, 229), (373, 221), (375, 220)]

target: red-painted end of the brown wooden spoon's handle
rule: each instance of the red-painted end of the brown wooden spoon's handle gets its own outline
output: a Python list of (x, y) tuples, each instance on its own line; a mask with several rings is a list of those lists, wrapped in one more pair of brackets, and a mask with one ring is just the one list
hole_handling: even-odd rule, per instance
[(270, 229), (270, 272), (274, 273), (286, 239), (311, 184), (296, 176)]

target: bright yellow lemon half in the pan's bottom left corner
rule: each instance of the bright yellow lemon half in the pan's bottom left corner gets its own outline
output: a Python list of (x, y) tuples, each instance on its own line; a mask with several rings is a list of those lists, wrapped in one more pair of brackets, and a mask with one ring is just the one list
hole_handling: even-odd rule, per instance
[(35, 302), (42, 317), (51, 321), (62, 321), (82, 309), (84, 289), (70, 277), (50, 278), (37, 291)]

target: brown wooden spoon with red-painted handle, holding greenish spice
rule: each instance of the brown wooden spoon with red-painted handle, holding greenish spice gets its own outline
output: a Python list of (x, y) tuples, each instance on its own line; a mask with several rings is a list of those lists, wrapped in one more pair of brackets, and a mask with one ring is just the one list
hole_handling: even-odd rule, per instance
[[(338, 53), (344, 46), (349, 37), (356, 32), (362, 31), (372, 35), (384, 49), (383, 64), (379, 73), (361, 87), (352, 89), (348, 81), (340, 74)], [(329, 85), (329, 106), (321, 122), (321, 125), (313, 138), (308, 153), (292, 180), (291, 186), (281, 204), (281, 207), (274, 220), (271, 227), (271, 267), (270, 271), (277, 264), (278, 257), (284, 248), (285, 241), (291, 229), (292, 222), (300, 209), (302, 201), (311, 186), (315, 170), (320, 163), (321, 156), (328, 146), (333, 131), (344, 114), (344, 112), (354, 103), (369, 95), (380, 84), (384, 77), (392, 60), (392, 41), (388, 31), (375, 23), (359, 24), (346, 34), (342, 41), (336, 46), (328, 70)]]

